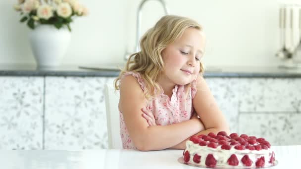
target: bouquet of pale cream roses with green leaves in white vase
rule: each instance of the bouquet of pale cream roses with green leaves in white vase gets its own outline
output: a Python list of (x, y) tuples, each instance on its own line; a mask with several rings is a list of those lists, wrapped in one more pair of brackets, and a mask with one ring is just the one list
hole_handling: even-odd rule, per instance
[(52, 24), (57, 29), (66, 25), (71, 32), (73, 16), (85, 16), (88, 9), (78, 0), (18, 0), (14, 5), (20, 11), (20, 22), (27, 21), (31, 29), (38, 24)]

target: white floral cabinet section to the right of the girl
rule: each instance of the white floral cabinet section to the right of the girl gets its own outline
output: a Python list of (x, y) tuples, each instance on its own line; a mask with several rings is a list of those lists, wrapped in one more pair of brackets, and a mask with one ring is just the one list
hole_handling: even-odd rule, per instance
[(301, 144), (301, 79), (207, 78), (231, 132)]

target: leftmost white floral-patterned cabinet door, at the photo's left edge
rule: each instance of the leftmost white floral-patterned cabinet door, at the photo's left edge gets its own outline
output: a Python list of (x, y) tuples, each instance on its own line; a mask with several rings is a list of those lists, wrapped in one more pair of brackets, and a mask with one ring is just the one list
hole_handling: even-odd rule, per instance
[(42, 77), (0, 77), (0, 149), (43, 147)]

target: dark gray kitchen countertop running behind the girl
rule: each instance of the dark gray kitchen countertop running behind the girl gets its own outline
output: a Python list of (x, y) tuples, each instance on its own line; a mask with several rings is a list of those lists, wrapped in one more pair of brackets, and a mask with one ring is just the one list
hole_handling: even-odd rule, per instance
[[(89, 69), (86, 69), (89, 68)], [(80, 76), (80, 77), (117, 77), (117, 66), (88, 65), (37, 68), (35, 65), (0, 65), (0, 76)], [(301, 69), (278, 67), (208, 67), (204, 77), (237, 78), (301, 78)]]

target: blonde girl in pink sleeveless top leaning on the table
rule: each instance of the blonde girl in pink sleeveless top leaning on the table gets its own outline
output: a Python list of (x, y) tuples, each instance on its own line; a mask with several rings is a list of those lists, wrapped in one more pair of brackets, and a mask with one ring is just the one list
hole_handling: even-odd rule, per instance
[(123, 148), (185, 149), (193, 135), (229, 132), (201, 75), (204, 46), (201, 25), (186, 17), (163, 16), (144, 34), (115, 80)]

